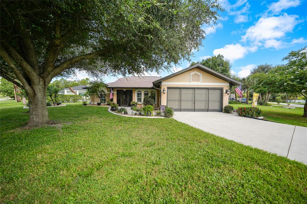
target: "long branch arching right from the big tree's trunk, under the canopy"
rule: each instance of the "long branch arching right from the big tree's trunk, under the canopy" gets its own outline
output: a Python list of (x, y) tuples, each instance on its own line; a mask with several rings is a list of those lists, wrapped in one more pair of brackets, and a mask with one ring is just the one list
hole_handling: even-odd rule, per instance
[[(92, 53), (88, 53), (88, 54), (85, 54), (85, 55), (80, 55), (80, 56), (68, 59), (65, 62), (62, 62), (60, 65), (56, 66), (56, 68), (54, 68), (52, 70), (52, 72), (50, 73), (50, 75), (49, 75), (50, 81), (52, 80), (53, 77), (55, 77), (58, 74), (60, 74), (62, 71), (67, 69), (69, 66), (71, 66), (71, 65), (73, 65), (73, 64), (75, 64), (77, 62), (80, 62), (82, 60), (85, 60), (85, 59), (91, 59), (91, 58), (96, 57), (96, 56), (98, 56), (98, 55), (100, 55), (102, 53), (103, 53), (102, 51), (92, 52)], [(46, 80), (46, 81), (49, 81), (49, 79)]]

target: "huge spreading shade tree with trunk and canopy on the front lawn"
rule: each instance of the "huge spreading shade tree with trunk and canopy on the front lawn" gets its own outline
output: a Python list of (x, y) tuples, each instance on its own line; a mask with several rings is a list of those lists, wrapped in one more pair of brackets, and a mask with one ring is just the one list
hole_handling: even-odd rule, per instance
[[(25, 89), (29, 126), (48, 121), (53, 77), (143, 74), (189, 60), (217, 1), (1, 1), (1, 76)], [(212, 23), (213, 22), (213, 23)], [(21, 83), (15, 81), (18, 80)]]

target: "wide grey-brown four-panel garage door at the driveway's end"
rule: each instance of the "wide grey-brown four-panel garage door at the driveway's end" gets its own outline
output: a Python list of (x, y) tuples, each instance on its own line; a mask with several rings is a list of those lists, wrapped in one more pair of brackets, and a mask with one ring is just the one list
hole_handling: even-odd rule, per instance
[(221, 88), (168, 88), (167, 106), (174, 111), (222, 112)]

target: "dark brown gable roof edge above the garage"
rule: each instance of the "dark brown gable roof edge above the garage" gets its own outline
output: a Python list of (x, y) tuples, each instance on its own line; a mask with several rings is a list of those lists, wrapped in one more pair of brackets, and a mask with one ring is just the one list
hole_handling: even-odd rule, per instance
[(196, 65), (190, 66), (188, 68), (185, 68), (183, 70), (175, 72), (174, 74), (170, 74), (170, 75), (168, 75), (166, 77), (160, 78), (160, 79), (154, 81), (153, 84), (161, 83), (162, 81), (165, 81), (166, 79), (172, 78), (174, 76), (177, 76), (179, 74), (182, 74), (182, 73), (184, 73), (184, 72), (186, 72), (188, 70), (192, 70), (194, 68), (202, 70), (202, 71), (204, 71), (204, 72), (206, 72), (208, 74), (211, 74), (212, 76), (215, 76), (215, 77), (218, 77), (220, 79), (223, 79), (224, 81), (227, 81), (230, 86), (236, 86), (236, 85), (241, 85), (242, 84), (240, 81), (237, 81), (237, 80), (235, 80), (235, 79), (233, 79), (231, 77), (227, 77), (226, 75), (221, 74), (220, 72), (212, 70), (212, 69), (210, 69), (210, 68), (208, 68), (208, 67), (206, 67), (204, 65), (201, 65), (201, 64), (196, 64)]

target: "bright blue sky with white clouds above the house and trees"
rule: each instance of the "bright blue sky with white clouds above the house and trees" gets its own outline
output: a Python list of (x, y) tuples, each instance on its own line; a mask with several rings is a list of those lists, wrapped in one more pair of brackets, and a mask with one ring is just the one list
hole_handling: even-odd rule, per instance
[[(281, 64), (290, 51), (307, 45), (307, 1), (219, 1), (225, 12), (214, 28), (203, 25), (206, 39), (194, 51), (192, 61), (223, 54), (232, 62), (232, 71), (245, 77), (255, 66), (269, 63)], [(190, 62), (174, 66), (173, 72), (185, 69)], [(171, 72), (172, 73), (172, 72)], [(169, 72), (146, 73), (166, 76)], [(82, 79), (80, 73), (74, 79)], [(121, 76), (119, 76), (121, 77)], [(116, 77), (103, 77), (112, 82)]]

